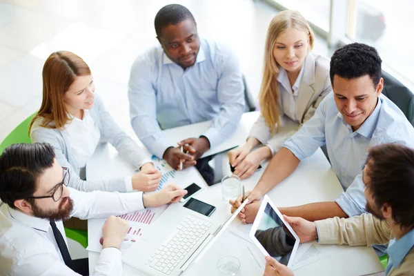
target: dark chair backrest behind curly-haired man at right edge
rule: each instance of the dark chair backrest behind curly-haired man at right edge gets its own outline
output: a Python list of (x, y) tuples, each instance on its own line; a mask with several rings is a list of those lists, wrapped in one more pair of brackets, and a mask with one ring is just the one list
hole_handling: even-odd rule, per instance
[(397, 81), (395, 77), (384, 72), (384, 70), (382, 71), (382, 77), (384, 78), (382, 94), (391, 99), (414, 126), (414, 93), (400, 83), (400, 81)]

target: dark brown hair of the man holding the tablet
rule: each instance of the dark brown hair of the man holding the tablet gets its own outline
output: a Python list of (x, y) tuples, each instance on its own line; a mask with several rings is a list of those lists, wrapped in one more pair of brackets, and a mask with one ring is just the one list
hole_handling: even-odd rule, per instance
[(414, 226), (414, 150), (398, 144), (382, 144), (368, 152), (368, 188), (377, 208), (393, 209), (393, 220)]

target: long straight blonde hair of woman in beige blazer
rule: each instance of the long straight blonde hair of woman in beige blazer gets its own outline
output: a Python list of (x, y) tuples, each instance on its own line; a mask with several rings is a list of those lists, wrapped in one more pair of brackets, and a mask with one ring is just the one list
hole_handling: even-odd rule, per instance
[[(302, 30), (308, 34), (308, 52), (313, 49), (313, 41), (315, 39), (311, 26), (309, 26), (302, 14), (297, 11), (284, 10), (278, 12), (270, 21), (264, 49), (263, 80), (259, 92), (259, 105), (272, 136), (275, 134), (275, 130), (276, 132), (279, 131), (279, 111), (277, 110), (277, 101), (279, 99), (277, 75), (279, 74), (279, 66), (275, 57), (273, 57), (273, 48), (275, 47), (277, 37), (288, 28)], [(276, 124), (277, 128), (275, 127)]]

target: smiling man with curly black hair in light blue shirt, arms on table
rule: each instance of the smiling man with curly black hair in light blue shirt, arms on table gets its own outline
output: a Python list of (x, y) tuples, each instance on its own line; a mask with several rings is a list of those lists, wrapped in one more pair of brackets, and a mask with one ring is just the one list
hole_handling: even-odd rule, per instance
[[(381, 59), (371, 46), (361, 43), (339, 48), (331, 58), (333, 95), (319, 104), (315, 115), (288, 139), (273, 157), (249, 202), (258, 201), (288, 177), (300, 160), (326, 145), (332, 168), (344, 190), (335, 201), (280, 208), (284, 215), (315, 221), (351, 217), (366, 212), (362, 170), (368, 149), (386, 143), (414, 148), (414, 128), (395, 104), (381, 95)], [(240, 200), (232, 202), (233, 208)], [(239, 215), (253, 221), (258, 203)], [(232, 208), (232, 209), (233, 209)]]

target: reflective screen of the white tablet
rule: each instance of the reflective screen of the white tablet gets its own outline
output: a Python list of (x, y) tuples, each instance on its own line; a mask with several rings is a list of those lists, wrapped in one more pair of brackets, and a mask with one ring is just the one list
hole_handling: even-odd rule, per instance
[(263, 246), (268, 255), (288, 266), (290, 258), (294, 257), (292, 253), (295, 244), (299, 243), (299, 240), (295, 238), (297, 235), (291, 233), (288, 229), (290, 226), (286, 227), (269, 202), (266, 203), (264, 212), (261, 216), (258, 215), (257, 219), (259, 219), (258, 222), (255, 221), (257, 227), (252, 229), (254, 238)]

